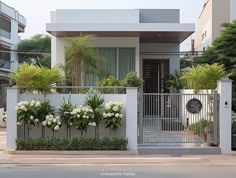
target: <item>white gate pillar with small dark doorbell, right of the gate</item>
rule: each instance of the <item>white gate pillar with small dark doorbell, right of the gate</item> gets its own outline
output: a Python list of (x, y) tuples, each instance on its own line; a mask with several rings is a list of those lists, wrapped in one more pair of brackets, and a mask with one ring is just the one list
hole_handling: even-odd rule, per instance
[(221, 79), (217, 82), (219, 102), (219, 139), (222, 154), (231, 153), (232, 128), (232, 80)]

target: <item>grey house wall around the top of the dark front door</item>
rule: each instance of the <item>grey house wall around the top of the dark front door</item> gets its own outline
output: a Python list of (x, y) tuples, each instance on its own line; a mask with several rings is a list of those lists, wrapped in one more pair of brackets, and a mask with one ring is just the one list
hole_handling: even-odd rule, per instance
[[(142, 52), (179, 52), (179, 44), (175, 43), (140, 43), (140, 53)], [(169, 59), (169, 71), (174, 74), (175, 71), (180, 70), (180, 57), (178, 55), (140, 55), (140, 74), (143, 73), (143, 60), (156, 59), (165, 60)]]

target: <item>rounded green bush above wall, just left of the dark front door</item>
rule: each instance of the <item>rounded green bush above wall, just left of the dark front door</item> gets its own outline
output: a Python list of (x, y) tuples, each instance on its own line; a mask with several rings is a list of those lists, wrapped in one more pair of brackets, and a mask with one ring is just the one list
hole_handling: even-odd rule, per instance
[(129, 72), (121, 81), (121, 85), (125, 87), (141, 87), (143, 80), (137, 76), (136, 72)]

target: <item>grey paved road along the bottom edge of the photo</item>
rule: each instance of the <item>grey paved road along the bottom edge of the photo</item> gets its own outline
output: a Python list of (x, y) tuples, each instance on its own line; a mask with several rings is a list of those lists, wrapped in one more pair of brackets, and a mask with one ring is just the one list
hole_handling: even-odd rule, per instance
[(186, 165), (0, 165), (1, 178), (235, 178), (235, 166)]

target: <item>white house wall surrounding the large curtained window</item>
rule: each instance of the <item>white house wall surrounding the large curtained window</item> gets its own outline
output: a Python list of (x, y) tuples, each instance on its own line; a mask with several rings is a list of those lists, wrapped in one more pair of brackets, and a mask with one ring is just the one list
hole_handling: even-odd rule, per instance
[[(65, 62), (66, 40), (52, 37), (52, 67)], [(139, 73), (139, 37), (97, 37), (91, 43), (91, 47), (97, 48), (135, 48), (135, 70)]]

